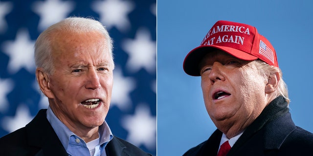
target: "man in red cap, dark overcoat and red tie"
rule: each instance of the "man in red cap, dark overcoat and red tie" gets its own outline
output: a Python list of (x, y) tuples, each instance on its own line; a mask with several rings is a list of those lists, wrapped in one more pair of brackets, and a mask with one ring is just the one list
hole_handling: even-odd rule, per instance
[(313, 134), (295, 126), (276, 52), (253, 26), (220, 20), (186, 56), (201, 76), (206, 110), (217, 130), (184, 156), (304, 156)]

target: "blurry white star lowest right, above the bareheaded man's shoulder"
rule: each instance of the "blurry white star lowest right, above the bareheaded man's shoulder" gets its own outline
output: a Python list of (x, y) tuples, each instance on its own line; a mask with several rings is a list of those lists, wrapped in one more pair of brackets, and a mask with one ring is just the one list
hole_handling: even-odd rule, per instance
[(156, 143), (156, 117), (152, 117), (146, 104), (139, 104), (134, 115), (123, 117), (122, 126), (128, 130), (127, 140), (136, 146), (144, 144), (148, 149)]

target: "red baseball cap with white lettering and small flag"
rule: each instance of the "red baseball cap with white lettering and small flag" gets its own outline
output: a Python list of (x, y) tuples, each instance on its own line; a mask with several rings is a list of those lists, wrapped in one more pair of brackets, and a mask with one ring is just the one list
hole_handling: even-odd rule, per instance
[(260, 35), (253, 26), (232, 21), (219, 20), (205, 35), (200, 46), (191, 50), (184, 62), (185, 73), (200, 76), (199, 63), (204, 55), (216, 49), (243, 60), (261, 59), (278, 67), (276, 52), (268, 39)]

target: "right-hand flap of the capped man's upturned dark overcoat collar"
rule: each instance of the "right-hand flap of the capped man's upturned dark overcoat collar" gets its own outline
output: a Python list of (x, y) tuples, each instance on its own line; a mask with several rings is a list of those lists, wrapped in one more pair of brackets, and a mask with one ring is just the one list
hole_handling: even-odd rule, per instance
[(263, 151), (279, 149), (285, 138), (295, 129), (286, 99), (282, 96), (277, 97), (247, 127), (228, 155), (238, 154), (239, 151), (246, 150), (245, 146), (251, 144), (262, 144), (254, 147), (263, 148), (260, 149)]

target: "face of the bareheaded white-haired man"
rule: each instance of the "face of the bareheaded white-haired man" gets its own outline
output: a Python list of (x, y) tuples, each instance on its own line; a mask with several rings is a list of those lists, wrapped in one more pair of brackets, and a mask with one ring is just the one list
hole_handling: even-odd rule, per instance
[(52, 41), (54, 72), (45, 93), (51, 109), (73, 132), (101, 125), (113, 85), (106, 39), (97, 32), (61, 32)]

